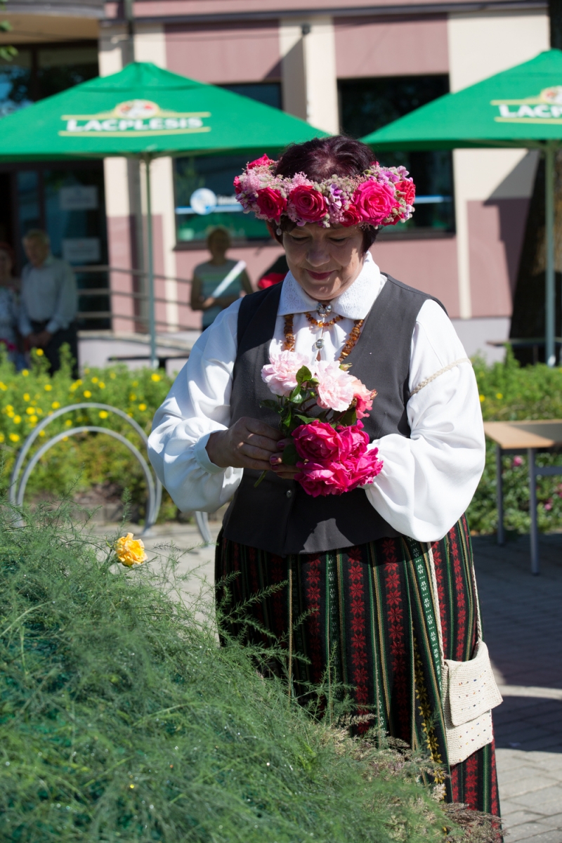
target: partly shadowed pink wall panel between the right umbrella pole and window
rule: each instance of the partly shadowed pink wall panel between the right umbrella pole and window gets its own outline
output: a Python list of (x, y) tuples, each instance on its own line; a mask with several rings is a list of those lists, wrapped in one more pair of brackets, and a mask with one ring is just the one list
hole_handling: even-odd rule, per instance
[(473, 316), (511, 316), (528, 204), (527, 199), (467, 203)]

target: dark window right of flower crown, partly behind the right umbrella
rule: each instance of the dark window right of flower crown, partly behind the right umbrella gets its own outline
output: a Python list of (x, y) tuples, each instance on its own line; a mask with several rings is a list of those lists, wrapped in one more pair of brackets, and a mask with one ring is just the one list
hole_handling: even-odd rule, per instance
[[(363, 137), (447, 94), (448, 90), (447, 75), (340, 79), (342, 131), (351, 137)], [(393, 237), (408, 230), (417, 234), (454, 231), (452, 153), (397, 151), (381, 153), (381, 158), (388, 166), (403, 164), (409, 169), (417, 193), (415, 214), (404, 225), (385, 228), (385, 236)]]

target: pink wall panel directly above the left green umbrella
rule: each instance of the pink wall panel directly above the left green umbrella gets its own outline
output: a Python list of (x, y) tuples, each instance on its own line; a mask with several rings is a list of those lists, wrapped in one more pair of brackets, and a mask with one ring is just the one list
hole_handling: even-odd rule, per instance
[(193, 24), (166, 27), (168, 69), (201, 82), (281, 78), (276, 24)]

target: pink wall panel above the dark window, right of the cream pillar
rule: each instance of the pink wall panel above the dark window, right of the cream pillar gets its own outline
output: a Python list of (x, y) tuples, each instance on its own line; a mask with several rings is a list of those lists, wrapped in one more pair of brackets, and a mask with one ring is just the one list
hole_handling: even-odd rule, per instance
[(447, 19), (335, 19), (338, 78), (447, 73)]

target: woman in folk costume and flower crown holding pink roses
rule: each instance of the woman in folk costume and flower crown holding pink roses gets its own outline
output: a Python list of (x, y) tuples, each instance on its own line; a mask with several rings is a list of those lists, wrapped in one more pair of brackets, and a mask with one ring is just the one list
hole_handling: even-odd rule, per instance
[[(245, 603), (257, 622), (244, 626), (248, 639), (269, 641), (261, 626), (289, 640), (297, 695), (334, 659), (356, 711), (450, 773), (447, 800), (499, 814), (498, 700), (488, 698), (463, 515), (484, 468), (478, 389), (442, 305), (383, 275), (368, 251), (378, 228), (413, 212), (413, 182), (360, 142), (329, 137), (248, 164), (235, 190), (245, 211), (268, 220), (290, 271), (233, 303), (195, 343), (154, 418), (153, 466), (182, 510), (213, 512), (233, 499), (217, 581), (236, 574), (231, 605)], [(294, 360), (320, 379), (311, 387), (324, 387), (320, 407), (347, 389), (340, 376), (362, 382), (350, 405), (362, 432), (361, 423), (348, 431), (367, 442), (361, 464), (371, 459), (371, 475), (349, 461), (281, 461), (292, 440), (271, 392), (290, 383)], [(343, 430), (315, 421), (298, 431), (314, 425), (326, 441)], [(286, 584), (249, 601), (277, 583)], [(453, 683), (458, 663), (476, 665), (476, 679), (455, 674)], [(453, 699), (452, 685), (467, 683), (479, 695)]]

